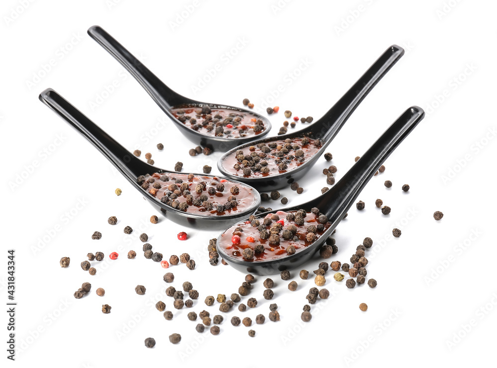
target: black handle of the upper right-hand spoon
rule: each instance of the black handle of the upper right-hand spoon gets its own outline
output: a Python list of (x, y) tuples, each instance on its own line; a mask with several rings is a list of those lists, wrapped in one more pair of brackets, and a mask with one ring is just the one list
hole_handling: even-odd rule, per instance
[(326, 142), (331, 142), (364, 97), (403, 55), (402, 47), (390, 46), (331, 109), (312, 125), (314, 135)]

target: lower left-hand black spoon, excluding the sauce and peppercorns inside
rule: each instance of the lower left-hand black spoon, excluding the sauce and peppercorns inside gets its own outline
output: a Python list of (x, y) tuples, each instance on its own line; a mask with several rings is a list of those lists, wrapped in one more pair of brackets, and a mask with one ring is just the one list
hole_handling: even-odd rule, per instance
[[(247, 203), (247, 207), (244, 211), (226, 215), (216, 215), (206, 212), (207, 214), (203, 215), (188, 213), (172, 208), (144, 190), (137, 183), (137, 178), (141, 175), (152, 175), (154, 173), (185, 175), (184, 173), (163, 170), (141, 161), (54, 90), (47, 89), (41, 92), (39, 98), (43, 103), (54, 110), (57, 115), (66, 120), (69, 125), (80, 132), (84, 138), (90, 141), (154, 207), (174, 222), (187, 226), (193, 226), (197, 229), (212, 229), (213, 227), (226, 228), (230, 224), (233, 224), (234, 221), (237, 221), (237, 219), (244, 218), (252, 214), (260, 204), (260, 196), (257, 190), (247, 184), (228, 180), (228, 182), (237, 184), (238, 186), (245, 186), (251, 195), (253, 195), (251, 197), (253, 198), (253, 202)], [(214, 178), (213, 176), (205, 174), (195, 174), (195, 176)]]

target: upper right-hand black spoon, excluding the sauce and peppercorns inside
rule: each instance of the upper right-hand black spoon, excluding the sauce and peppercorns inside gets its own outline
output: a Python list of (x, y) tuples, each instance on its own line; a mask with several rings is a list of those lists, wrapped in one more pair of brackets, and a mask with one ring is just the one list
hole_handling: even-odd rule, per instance
[[(299, 130), (295, 133), (288, 133), (278, 135), (276, 137), (269, 137), (257, 139), (247, 144), (242, 144), (225, 153), (218, 161), (218, 169), (223, 175), (228, 178), (239, 180), (241, 182), (250, 184), (259, 190), (274, 190), (291, 184), (302, 178), (316, 161), (325, 152), (328, 145), (341, 129), (343, 124), (350, 117), (352, 112), (362, 102), (364, 97), (373, 89), (373, 87), (383, 78), (383, 76), (394, 66), (395, 63), (404, 55), (404, 49), (399, 46), (393, 45), (389, 47), (376, 62), (364, 73), (364, 75), (348, 90), (333, 107), (318, 121), (308, 126), (305, 129)], [(320, 139), (323, 144), (321, 148), (309, 157), (300, 166), (288, 170), (281, 174), (270, 176), (250, 176), (246, 177), (243, 170), (238, 172), (233, 169), (233, 165), (237, 162), (236, 152), (249, 146), (256, 146), (259, 143), (269, 144), (272, 141), (285, 140), (287, 138), (303, 138), (309, 137), (310, 139)], [(247, 154), (247, 153), (246, 153)], [(238, 175), (237, 175), (238, 174)]]

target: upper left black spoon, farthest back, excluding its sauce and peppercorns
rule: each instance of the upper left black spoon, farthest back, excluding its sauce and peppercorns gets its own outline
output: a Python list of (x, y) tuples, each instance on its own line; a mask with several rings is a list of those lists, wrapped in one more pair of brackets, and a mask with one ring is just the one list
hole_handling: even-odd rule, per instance
[[(169, 116), (178, 129), (189, 140), (195, 142), (203, 147), (225, 152), (240, 144), (244, 144), (257, 137), (263, 137), (271, 129), (269, 120), (253, 111), (244, 110), (238, 107), (227, 106), (215, 103), (206, 103), (193, 100), (182, 96), (179, 93), (172, 91), (167, 87), (157, 76), (152, 73), (145, 65), (143, 65), (136, 57), (134, 57), (128, 50), (126, 50), (119, 42), (117, 42), (110, 34), (108, 34), (101, 27), (94, 25), (88, 29), (88, 34), (100, 46), (107, 50), (116, 60), (125, 67), (128, 72), (142, 85), (152, 99), (159, 105), (159, 107)], [(187, 106), (202, 107), (208, 105), (211, 109), (229, 109), (233, 112), (243, 112), (250, 117), (261, 119), (264, 122), (265, 130), (257, 135), (241, 138), (224, 138), (216, 137), (214, 135), (199, 133), (180, 122), (171, 112), (172, 108), (185, 108)]]

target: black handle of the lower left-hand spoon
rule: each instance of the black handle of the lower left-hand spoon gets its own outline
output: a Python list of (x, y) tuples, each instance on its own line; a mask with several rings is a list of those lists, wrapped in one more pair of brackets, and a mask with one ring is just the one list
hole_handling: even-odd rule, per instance
[(91, 142), (128, 180), (136, 183), (139, 175), (150, 172), (152, 166), (135, 157), (59, 93), (49, 88), (41, 92), (39, 98)]

